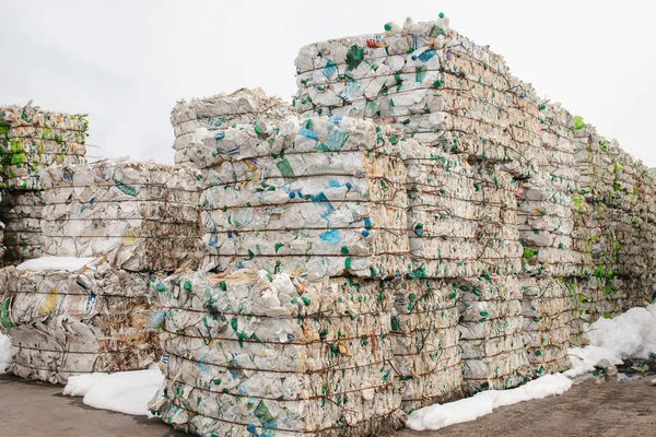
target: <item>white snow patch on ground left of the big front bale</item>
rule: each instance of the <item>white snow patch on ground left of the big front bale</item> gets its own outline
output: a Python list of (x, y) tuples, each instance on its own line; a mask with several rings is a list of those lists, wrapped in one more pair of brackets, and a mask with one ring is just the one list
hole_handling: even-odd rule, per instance
[(83, 395), (82, 402), (95, 409), (150, 416), (147, 405), (163, 380), (159, 368), (80, 375), (69, 378), (63, 394)]

